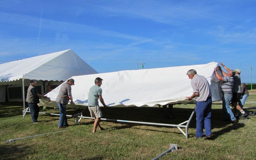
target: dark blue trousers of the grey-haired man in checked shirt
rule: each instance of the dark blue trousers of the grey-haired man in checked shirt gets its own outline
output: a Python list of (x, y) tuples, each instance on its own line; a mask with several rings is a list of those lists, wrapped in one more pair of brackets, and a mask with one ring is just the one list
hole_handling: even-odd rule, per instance
[(211, 111), (212, 111), (212, 98), (208, 97), (204, 102), (196, 102), (196, 137), (202, 137), (203, 122), (205, 135), (212, 135), (211, 132)]

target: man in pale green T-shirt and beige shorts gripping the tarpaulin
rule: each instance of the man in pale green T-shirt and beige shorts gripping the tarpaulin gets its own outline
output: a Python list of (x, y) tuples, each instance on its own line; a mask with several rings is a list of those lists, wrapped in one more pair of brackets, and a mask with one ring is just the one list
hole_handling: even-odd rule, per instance
[(100, 126), (100, 118), (102, 117), (102, 112), (100, 110), (100, 105), (98, 102), (98, 99), (100, 99), (102, 105), (104, 107), (107, 107), (107, 105), (104, 102), (104, 99), (102, 98), (102, 89), (100, 88), (102, 80), (103, 79), (101, 79), (100, 77), (97, 77), (94, 80), (95, 85), (90, 88), (88, 94), (88, 109), (91, 113), (91, 117), (94, 118), (92, 133), (96, 132), (98, 126), (100, 127), (100, 130), (104, 130), (104, 128)]

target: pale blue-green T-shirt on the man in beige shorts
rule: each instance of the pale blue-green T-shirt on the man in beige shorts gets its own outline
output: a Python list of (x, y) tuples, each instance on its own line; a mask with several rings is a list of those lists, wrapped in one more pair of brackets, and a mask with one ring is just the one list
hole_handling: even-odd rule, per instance
[(99, 95), (102, 95), (102, 89), (98, 85), (92, 86), (88, 94), (88, 105), (99, 106)]

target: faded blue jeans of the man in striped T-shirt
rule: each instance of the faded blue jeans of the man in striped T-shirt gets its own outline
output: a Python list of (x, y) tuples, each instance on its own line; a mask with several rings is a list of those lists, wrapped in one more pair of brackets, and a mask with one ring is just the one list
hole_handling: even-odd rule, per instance
[(234, 116), (234, 113), (230, 109), (230, 102), (232, 100), (233, 95), (232, 94), (223, 94), (222, 95), (222, 109), (224, 111), (224, 116), (228, 120), (236, 120), (236, 117)]

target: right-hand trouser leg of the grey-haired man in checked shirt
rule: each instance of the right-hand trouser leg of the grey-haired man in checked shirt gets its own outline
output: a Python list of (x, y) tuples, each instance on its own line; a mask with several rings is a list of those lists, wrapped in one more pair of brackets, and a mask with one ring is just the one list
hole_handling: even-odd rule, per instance
[(205, 135), (212, 135), (211, 131), (211, 113), (212, 113), (212, 98), (207, 101), (207, 106), (204, 111), (204, 129)]

